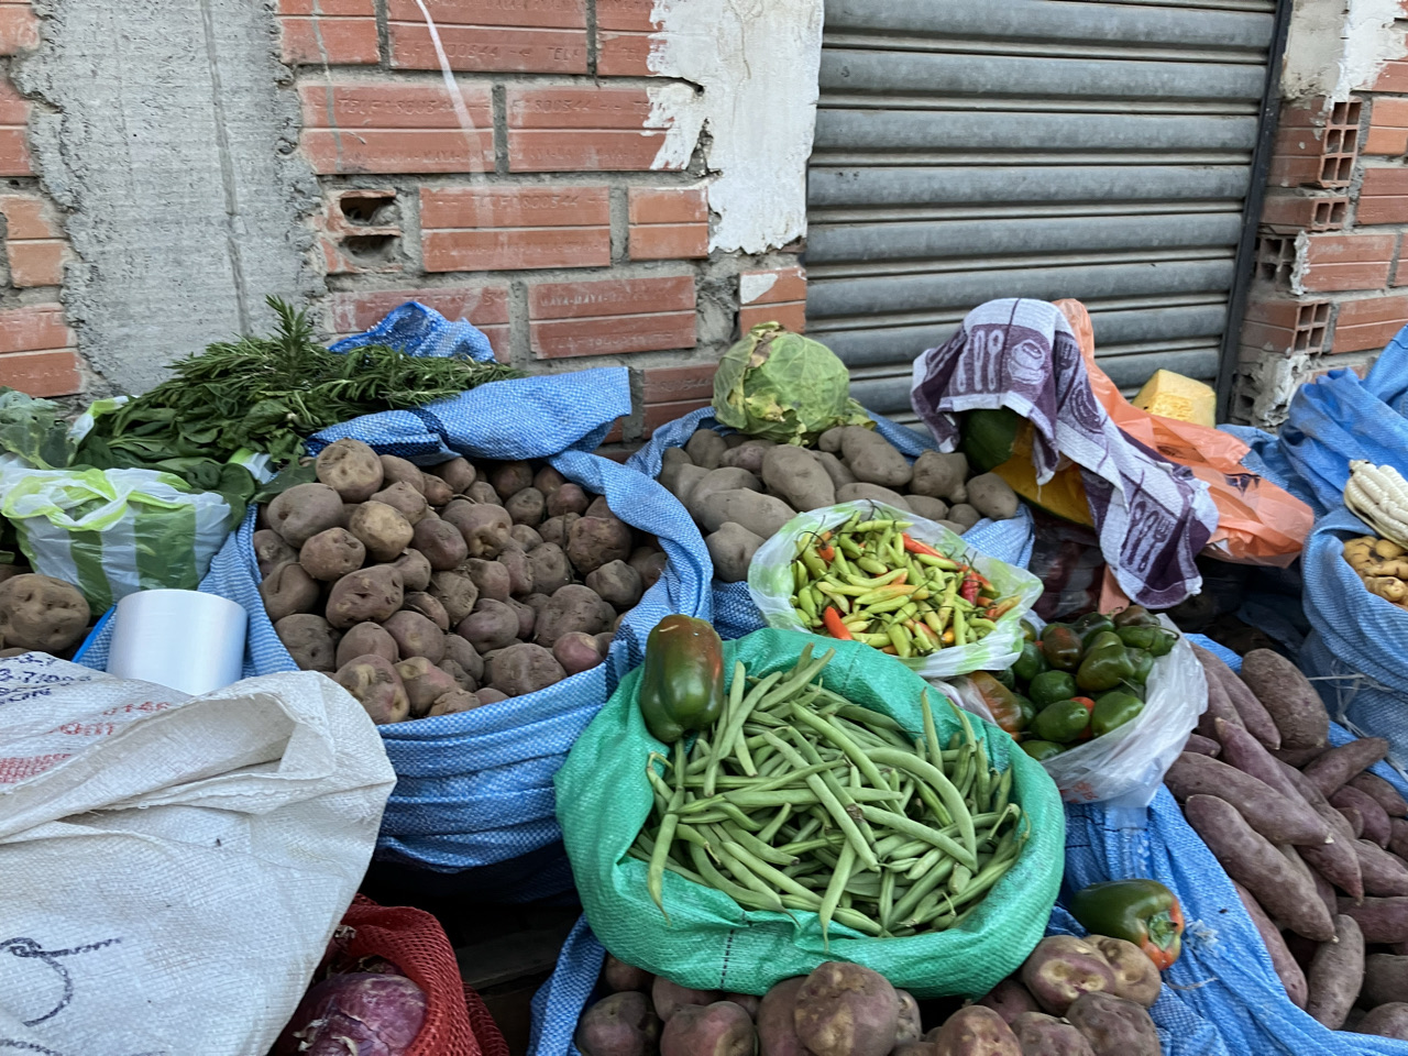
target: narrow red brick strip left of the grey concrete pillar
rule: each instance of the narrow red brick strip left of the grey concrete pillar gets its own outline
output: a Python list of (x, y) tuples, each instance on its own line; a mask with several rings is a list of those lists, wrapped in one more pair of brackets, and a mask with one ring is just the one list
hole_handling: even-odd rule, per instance
[(30, 156), (30, 103), (10, 80), (10, 63), (38, 44), (28, 0), (0, 0), (0, 384), (72, 396), (83, 370), (59, 303), (68, 244)]

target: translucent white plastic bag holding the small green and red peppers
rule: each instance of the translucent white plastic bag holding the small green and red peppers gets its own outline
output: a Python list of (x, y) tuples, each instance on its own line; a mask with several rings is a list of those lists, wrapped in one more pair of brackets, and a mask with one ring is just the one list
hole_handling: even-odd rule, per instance
[[(1032, 617), (1028, 621), (1039, 624)], [(1169, 631), (1177, 631), (1169, 617), (1160, 615), (1159, 622)], [(953, 689), (964, 708), (993, 719), (967, 679), (959, 679)], [(1133, 722), (1042, 762), (1066, 803), (1135, 808), (1153, 803), (1164, 773), (1198, 725), (1198, 715), (1208, 707), (1202, 665), (1193, 655), (1186, 635), (1180, 634), (1173, 649), (1153, 662), (1145, 689), (1145, 705)]]

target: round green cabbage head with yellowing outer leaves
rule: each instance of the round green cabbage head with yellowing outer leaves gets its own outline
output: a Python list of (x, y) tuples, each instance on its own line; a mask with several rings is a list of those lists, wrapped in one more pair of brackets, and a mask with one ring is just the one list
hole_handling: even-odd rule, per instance
[(760, 322), (719, 360), (714, 417), (749, 436), (810, 445), (836, 425), (874, 422), (850, 398), (850, 372), (819, 341)]

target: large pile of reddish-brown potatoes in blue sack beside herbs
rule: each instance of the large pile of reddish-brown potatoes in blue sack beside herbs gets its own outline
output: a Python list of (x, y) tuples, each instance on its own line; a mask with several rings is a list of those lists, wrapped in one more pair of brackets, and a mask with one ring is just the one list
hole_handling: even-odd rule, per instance
[(551, 466), (421, 470), (341, 439), (260, 510), (259, 593), (304, 670), (379, 722), (535, 693), (605, 659), (665, 553)]

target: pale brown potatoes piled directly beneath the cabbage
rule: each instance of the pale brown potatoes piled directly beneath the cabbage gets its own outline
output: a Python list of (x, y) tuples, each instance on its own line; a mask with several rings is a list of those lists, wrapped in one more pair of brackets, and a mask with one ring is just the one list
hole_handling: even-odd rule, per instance
[(828, 429), (815, 451), (698, 429), (666, 448), (659, 480), (704, 531), (725, 583), (746, 580), (758, 548), (798, 513), (836, 503), (887, 503), (960, 535), (984, 517), (1017, 515), (1017, 493), (995, 473), (970, 477), (967, 456), (926, 451), (911, 465), (859, 425)]

